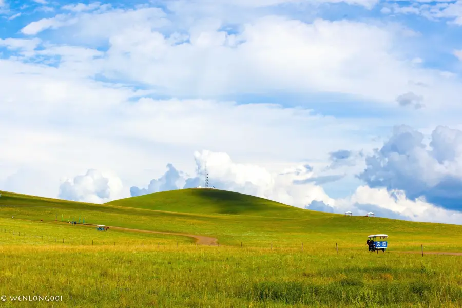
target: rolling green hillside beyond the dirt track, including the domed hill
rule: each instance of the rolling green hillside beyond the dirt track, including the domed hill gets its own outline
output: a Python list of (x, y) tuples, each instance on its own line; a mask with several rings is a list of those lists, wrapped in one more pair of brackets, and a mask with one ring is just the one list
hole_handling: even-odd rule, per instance
[(362, 247), (369, 234), (386, 233), (393, 248), (417, 250), (421, 243), (440, 251), (458, 251), (453, 234), (462, 226), (387, 218), (344, 217), (288, 206), (236, 192), (182, 189), (91, 204), (0, 192), (0, 218), (54, 222), (85, 218), (104, 224), (159, 232), (190, 233), (218, 238), (225, 245), (244, 242), (290, 247), (296, 242)]

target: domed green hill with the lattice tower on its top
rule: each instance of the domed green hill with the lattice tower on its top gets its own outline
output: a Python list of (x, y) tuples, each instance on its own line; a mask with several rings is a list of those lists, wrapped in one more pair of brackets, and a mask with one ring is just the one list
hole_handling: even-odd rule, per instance
[(219, 189), (181, 189), (156, 192), (108, 202), (109, 205), (197, 214), (233, 214), (280, 218), (330, 217), (322, 213), (289, 206), (238, 192)]

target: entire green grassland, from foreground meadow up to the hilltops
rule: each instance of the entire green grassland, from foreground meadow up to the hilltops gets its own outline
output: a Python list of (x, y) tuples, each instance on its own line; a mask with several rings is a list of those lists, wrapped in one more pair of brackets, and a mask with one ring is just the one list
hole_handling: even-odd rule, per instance
[[(55, 307), (462, 306), (462, 256), (401, 253), (421, 244), (462, 252), (458, 225), (344, 217), (205, 189), (104, 205), (1, 194), (0, 295), (63, 296)], [(56, 215), (211, 236), (220, 246), (97, 232), (55, 222)], [(365, 240), (375, 233), (390, 236), (386, 253), (367, 251)]]

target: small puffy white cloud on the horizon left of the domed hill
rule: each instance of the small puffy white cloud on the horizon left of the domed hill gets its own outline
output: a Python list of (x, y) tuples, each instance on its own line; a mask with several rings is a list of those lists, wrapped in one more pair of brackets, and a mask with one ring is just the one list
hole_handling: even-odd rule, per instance
[(117, 176), (89, 169), (85, 175), (65, 179), (60, 185), (58, 197), (72, 201), (105, 203), (120, 198), (122, 188), (122, 182)]

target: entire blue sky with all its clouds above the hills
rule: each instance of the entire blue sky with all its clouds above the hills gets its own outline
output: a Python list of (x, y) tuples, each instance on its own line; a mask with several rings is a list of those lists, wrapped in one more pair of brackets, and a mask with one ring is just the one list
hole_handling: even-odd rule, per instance
[(462, 224), (461, 73), (462, 1), (0, 0), (0, 189)]

